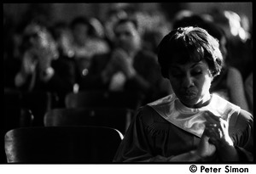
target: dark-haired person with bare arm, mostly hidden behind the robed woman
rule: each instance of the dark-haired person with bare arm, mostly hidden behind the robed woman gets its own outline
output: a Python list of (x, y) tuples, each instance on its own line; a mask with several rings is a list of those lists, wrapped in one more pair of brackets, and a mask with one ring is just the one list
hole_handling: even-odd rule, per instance
[(218, 39), (219, 49), (223, 57), (223, 67), (220, 74), (212, 81), (211, 93), (216, 93), (222, 98), (227, 99), (232, 104), (236, 104), (248, 111), (247, 99), (243, 87), (243, 79), (239, 70), (230, 65), (230, 50), (228, 41), (222, 28), (215, 25), (211, 20), (205, 20), (196, 14), (190, 14), (176, 20), (173, 25), (175, 28), (184, 26), (200, 26), (211, 36)]

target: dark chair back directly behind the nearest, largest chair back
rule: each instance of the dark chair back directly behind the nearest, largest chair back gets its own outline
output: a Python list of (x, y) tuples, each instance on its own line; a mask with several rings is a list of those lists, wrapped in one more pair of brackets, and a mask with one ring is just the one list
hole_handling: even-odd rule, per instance
[(108, 126), (125, 134), (134, 111), (125, 108), (51, 109), (44, 126)]

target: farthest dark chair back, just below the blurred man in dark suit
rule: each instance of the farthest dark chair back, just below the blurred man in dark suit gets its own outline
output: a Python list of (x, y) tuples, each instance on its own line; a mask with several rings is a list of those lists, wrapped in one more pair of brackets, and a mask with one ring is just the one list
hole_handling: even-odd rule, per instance
[(125, 91), (109, 92), (104, 90), (88, 90), (79, 93), (68, 93), (65, 98), (67, 108), (80, 107), (122, 107), (137, 109), (143, 101), (143, 94)]

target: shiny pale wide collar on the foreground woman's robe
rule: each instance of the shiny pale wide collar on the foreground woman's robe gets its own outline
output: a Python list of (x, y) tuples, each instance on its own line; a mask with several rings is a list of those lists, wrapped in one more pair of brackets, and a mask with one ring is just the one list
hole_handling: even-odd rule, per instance
[(216, 94), (212, 94), (209, 104), (201, 108), (189, 108), (182, 104), (174, 93), (160, 98), (153, 103), (148, 104), (156, 112), (158, 112), (166, 121), (178, 126), (186, 132), (190, 132), (201, 138), (205, 130), (206, 119), (205, 111), (210, 111), (212, 114), (223, 118), (225, 121), (230, 121), (230, 116), (237, 112), (239, 114), (240, 107), (231, 104), (224, 98)]

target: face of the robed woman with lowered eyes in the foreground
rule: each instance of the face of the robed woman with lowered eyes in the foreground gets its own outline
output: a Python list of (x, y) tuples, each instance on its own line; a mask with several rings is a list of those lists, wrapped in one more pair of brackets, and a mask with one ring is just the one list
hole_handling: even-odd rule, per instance
[(198, 108), (210, 99), (212, 75), (205, 60), (169, 67), (169, 80), (177, 98), (189, 108)]

